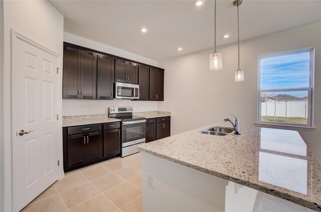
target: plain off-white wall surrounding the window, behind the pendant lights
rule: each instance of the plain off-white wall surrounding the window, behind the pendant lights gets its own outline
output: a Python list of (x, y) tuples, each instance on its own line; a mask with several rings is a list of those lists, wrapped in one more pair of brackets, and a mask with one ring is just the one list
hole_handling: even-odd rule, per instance
[[(315, 47), (314, 104), (321, 104), (321, 23), (243, 41), (240, 44), (240, 68), (244, 82), (234, 82), (237, 70), (237, 44), (218, 47), (223, 69), (209, 70), (213, 49), (159, 61), (165, 71), (165, 99), (158, 110), (172, 112), (172, 134), (211, 123), (224, 124), (230, 113), (241, 125), (257, 121), (258, 56)], [(321, 161), (321, 109), (314, 109), (314, 132), (300, 131), (312, 153)]]

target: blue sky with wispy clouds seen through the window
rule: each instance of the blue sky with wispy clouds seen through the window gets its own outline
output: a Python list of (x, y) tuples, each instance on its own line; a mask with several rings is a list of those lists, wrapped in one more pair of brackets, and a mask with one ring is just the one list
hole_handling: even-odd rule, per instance
[[(309, 57), (305, 52), (261, 60), (261, 89), (308, 87)], [(295, 93), (297, 97), (306, 95), (306, 91)]]

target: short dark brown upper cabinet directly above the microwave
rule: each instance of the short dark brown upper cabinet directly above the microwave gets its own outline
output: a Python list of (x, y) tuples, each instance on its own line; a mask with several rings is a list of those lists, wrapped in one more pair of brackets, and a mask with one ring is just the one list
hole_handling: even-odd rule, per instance
[(115, 81), (138, 84), (138, 64), (123, 59), (116, 59)]

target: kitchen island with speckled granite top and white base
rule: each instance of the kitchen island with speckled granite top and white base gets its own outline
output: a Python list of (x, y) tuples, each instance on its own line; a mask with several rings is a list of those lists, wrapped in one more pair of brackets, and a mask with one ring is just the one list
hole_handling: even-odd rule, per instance
[(259, 190), (321, 211), (321, 167), (298, 132), (200, 133), (212, 126), (138, 146), (143, 210), (251, 210)]

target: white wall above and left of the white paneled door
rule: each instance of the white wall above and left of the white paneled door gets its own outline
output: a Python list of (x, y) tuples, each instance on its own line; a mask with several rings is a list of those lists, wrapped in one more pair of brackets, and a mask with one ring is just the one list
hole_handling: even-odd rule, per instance
[[(11, 29), (63, 54), (63, 16), (47, 1), (4, 1), (4, 69), (1, 78), (1, 155), (4, 164), (4, 211), (13, 210), (12, 120), (11, 120)], [(62, 58), (62, 57), (61, 57)], [(62, 61), (61, 61), (62, 62)], [(59, 101), (59, 100), (57, 100)], [(60, 141), (61, 142), (61, 141)], [(2, 202), (3, 204), (3, 202)], [(2, 209), (1, 209), (2, 210)]]

